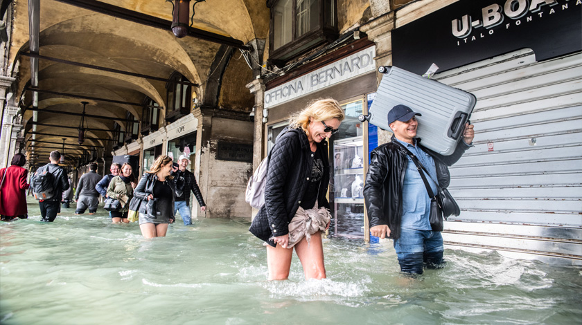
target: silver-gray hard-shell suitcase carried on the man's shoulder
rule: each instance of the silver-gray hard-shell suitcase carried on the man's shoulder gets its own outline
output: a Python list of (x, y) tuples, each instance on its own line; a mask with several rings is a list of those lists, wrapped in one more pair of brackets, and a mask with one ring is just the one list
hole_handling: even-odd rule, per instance
[(385, 75), (368, 115), (360, 115), (360, 120), (391, 131), (388, 112), (404, 104), (422, 114), (416, 117), (416, 136), (422, 138), (423, 145), (443, 156), (452, 154), (475, 107), (475, 96), (396, 66), (380, 66), (378, 71)]

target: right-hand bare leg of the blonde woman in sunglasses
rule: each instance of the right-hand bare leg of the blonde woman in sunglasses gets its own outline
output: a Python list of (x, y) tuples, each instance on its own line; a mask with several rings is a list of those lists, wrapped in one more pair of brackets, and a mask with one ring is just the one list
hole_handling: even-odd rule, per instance
[(321, 243), (321, 232), (311, 235), (308, 245), (307, 239), (303, 238), (295, 245), (295, 252), (303, 266), (306, 279), (325, 279), (326, 266), (324, 265), (324, 246)]

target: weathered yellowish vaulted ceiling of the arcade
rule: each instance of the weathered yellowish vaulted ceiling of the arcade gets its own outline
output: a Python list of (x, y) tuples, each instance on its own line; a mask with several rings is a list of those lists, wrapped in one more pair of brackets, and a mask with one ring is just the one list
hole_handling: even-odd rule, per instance
[[(40, 1), (39, 55), (165, 79), (174, 71), (178, 71), (190, 82), (199, 84), (200, 86), (195, 87), (193, 91), (197, 97), (204, 97), (208, 76), (213, 72), (211, 64), (217, 61), (218, 53), (224, 53), (224, 51), (220, 52), (220, 43), (190, 36), (179, 39), (171, 30), (138, 24), (64, 2)], [(172, 20), (173, 5), (164, 0), (102, 2), (159, 19)], [(17, 77), (15, 97), (24, 95), (24, 100), (21, 102), (24, 110), (22, 123), (27, 140), (31, 138), (33, 126), (35, 126), (34, 132), (37, 133), (35, 139), (39, 146), (40, 141), (62, 143), (63, 136), (70, 137), (66, 140), (67, 144), (76, 144), (76, 139), (73, 137), (78, 135), (78, 130), (74, 127), (78, 127), (80, 116), (62, 113), (81, 113), (80, 102), (87, 101), (89, 102), (87, 114), (110, 119), (87, 118), (89, 128), (102, 131), (87, 131), (87, 140), (83, 145), (87, 145), (86, 149), (91, 146), (100, 146), (103, 150), (110, 151), (112, 141), (107, 139), (111, 139), (114, 134), (114, 123), (117, 122), (125, 129), (127, 112), (141, 120), (141, 106), (127, 103), (139, 104), (147, 96), (157, 102), (162, 110), (166, 108), (166, 82), (164, 81), (41, 58), (38, 61), (37, 70), (38, 88), (41, 90), (39, 91), (39, 111), (33, 113), (30, 110), (31, 91), (26, 90), (26, 87), (30, 86), (33, 67), (30, 66), (30, 59), (21, 54), (29, 52), (28, 1), (14, 0), (12, 3), (14, 19), (9, 66), (12, 68), (12, 65), (17, 62), (19, 64), (15, 75)], [(238, 39), (243, 44), (247, 44), (254, 39), (267, 37), (269, 10), (265, 0), (206, 0), (195, 5), (192, 27), (223, 37)], [(218, 59), (220, 60), (220, 57)], [(248, 76), (252, 76), (249, 71), (236, 73), (236, 70), (240, 71), (241, 68), (247, 67), (238, 63), (233, 64), (232, 71), (224, 74), (224, 77), (231, 78), (230, 81), (225, 80), (229, 87), (235, 83), (246, 84), (251, 81), (247, 80)], [(227, 98), (231, 99), (233, 106), (240, 107), (244, 99), (232, 97), (236, 96), (236, 93), (231, 90), (231, 95)], [(80, 98), (82, 96), (94, 97), (96, 100), (82, 99)], [(97, 100), (99, 98), (117, 102)], [(33, 123), (34, 121), (62, 127), (37, 125)], [(102, 140), (90, 140), (90, 138)], [(26, 149), (32, 149), (30, 145), (31, 142), (27, 141)], [(80, 156), (82, 149), (71, 149), (68, 152)], [(39, 159), (46, 160), (42, 158), (46, 156), (41, 154)]]

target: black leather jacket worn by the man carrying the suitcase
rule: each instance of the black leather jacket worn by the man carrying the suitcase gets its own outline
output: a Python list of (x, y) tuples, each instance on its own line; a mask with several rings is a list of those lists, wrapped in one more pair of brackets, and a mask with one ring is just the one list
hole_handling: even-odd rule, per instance
[[(391, 140), (394, 142), (396, 138), (392, 136)], [(452, 155), (442, 156), (420, 145), (421, 139), (416, 140), (421, 149), (434, 159), (439, 186), (448, 187), (450, 183), (448, 166), (457, 163), (470, 146), (461, 141)], [(391, 239), (400, 237), (402, 187), (407, 165), (408, 158), (403, 147), (392, 142), (381, 145), (371, 152), (366, 185), (364, 185), (368, 221), (370, 228), (376, 225), (388, 225)]]

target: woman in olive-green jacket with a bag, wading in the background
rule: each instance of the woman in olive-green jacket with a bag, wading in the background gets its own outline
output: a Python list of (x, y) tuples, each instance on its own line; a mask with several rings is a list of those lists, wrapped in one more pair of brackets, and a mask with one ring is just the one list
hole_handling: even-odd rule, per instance
[(127, 220), (127, 211), (129, 210), (130, 201), (133, 198), (133, 189), (136, 179), (132, 174), (132, 165), (125, 163), (121, 166), (121, 173), (112, 178), (107, 186), (107, 197), (116, 198), (124, 202), (119, 211), (111, 211), (112, 223), (129, 223)]

